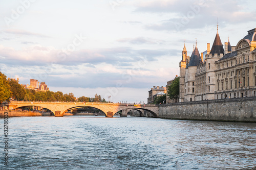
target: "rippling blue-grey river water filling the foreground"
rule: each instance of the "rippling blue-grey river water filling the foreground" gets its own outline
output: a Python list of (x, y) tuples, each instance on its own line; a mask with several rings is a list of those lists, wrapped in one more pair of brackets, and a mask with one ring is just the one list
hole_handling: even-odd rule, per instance
[(0, 169), (256, 168), (253, 123), (103, 116), (9, 117), (8, 123), (9, 163), (1, 154)]

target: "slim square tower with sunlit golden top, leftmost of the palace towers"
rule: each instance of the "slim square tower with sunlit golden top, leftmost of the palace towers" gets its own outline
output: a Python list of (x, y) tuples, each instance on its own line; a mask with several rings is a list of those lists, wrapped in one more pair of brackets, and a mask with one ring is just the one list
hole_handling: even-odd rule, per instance
[(180, 62), (180, 96), (179, 102), (184, 102), (184, 89), (185, 89), (185, 68), (187, 60), (187, 50), (184, 42), (184, 47), (182, 50), (182, 60)]

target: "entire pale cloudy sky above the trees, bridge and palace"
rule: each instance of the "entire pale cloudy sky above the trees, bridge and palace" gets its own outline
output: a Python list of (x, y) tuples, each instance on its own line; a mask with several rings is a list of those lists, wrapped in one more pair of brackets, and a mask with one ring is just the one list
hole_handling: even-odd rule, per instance
[(20, 84), (46, 82), (76, 97), (147, 102), (212, 45), (217, 22), (232, 46), (256, 28), (254, 0), (20, 0), (0, 2), (0, 68)]

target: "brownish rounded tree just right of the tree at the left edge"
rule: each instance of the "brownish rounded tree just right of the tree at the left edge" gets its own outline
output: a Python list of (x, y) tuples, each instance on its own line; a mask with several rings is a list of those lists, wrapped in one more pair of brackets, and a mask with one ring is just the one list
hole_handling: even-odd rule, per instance
[(15, 99), (17, 101), (24, 100), (26, 94), (25, 88), (22, 85), (18, 84), (18, 81), (13, 79), (9, 80), (9, 85), (11, 87), (10, 89), (12, 92), (12, 99)]

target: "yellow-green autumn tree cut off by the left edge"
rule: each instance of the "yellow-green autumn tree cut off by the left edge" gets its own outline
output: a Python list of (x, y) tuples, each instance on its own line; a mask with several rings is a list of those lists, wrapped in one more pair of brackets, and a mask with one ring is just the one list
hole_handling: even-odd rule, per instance
[(0, 72), (0, 106), (2, 102), (9, 101), (11, 96), (11, 90), (9, 82), (6, 80), (6, 76)]

